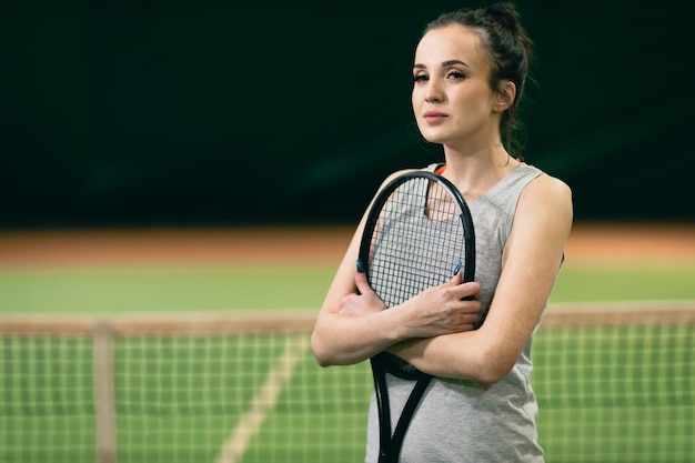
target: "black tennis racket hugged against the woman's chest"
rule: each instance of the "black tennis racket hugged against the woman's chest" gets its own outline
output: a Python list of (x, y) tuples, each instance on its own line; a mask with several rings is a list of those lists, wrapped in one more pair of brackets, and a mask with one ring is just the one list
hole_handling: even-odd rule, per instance
[[(359, 256), (370, 286), (386, 308), (450, 281), (459, 271), (463, 272), (463, 282), (473, 281), (475, 232), (461, 192), (429, 171), (399, 175), (374, 199)], [(370, 362), (379, 412), (379, 463), (394, 463), (432, 376), (387, 352), (374, 355)], [(393, 434), (386, 373), (415, 381)]]

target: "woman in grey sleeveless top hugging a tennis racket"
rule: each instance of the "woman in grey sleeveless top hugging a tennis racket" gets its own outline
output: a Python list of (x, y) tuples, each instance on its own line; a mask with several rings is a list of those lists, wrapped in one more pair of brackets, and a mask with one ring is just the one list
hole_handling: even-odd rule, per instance
[[(357, 261), (363, 219), (312, 334), (322, 366), (362, 362), (385, 350), (435, 376), (405, 434), (403, 463), (543, 461), (531, 343), (563, 261), (572, 198), (565, 183), (505, 147), (530, 46), (514, 7), (496, 3), (441, 16), (415, 50), (414, 115), (445, 159), (425, 169), (452, 181), (471, 208), (476, 281), (459, 284), (456, 275), (384, 310)], [(481, 308), (488, 313), (473, 330)], [(396, 416), (412, 386), (389, 376)], [(373, 399), (365, 461), (377, 454)]]

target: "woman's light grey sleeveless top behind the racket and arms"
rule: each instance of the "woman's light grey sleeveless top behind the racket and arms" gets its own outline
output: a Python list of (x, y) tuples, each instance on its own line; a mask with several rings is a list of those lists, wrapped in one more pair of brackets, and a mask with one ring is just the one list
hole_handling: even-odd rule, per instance
[[(437, 164), (424, 170), (434, 171)], [(475, 227), (475, 281), (488, 308), (502, 271), (502, 252), (522, 190), (543, 172), (521, 163), (470, 204)], [(545, 308), (544, 308), (545, 311)], [(537, 330), (537, 326), (536, 326)], [(534, 330), (535, 333), (535, 330)], [(544, 461), (536, 433), (537, 403), (531, 387), (528, 339), (512, 371), (495, 384), (434, 378), (407, 427), (401, 463)], [(413, 381), (386, 374), (392, 432)], [(379, 415), (374, 393), (369, 413), (365, 462), (379, 459)]]

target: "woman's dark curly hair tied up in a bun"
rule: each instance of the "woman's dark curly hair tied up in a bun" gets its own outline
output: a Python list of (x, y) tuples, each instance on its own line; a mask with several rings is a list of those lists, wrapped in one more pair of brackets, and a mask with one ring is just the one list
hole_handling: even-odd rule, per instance
[(460, 24), (476, 31), (490, 57), (492, 71), (490, 85), (497, 91), (501, 80), (516, 84), (516, 97), (502, 115), (500, 130), (503, 140), (515, 157), (522, 157), (523, 143), (515, 138), (522, 124), (516, 118), (518, 101), (524, 93), (533, 42), (521, 24), (521, 16), (513, 3), (500, 2), (475, 10), (457, 10), (443, 13), (431, 21), (424, 32), (451, 24)]

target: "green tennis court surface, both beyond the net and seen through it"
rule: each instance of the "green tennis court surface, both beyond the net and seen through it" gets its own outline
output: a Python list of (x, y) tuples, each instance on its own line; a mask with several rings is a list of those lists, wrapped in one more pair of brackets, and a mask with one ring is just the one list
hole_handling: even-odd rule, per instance
[[(332, 272), (328, 265), (6, 269), (0, 312), (159, 313), (162, 320), (299, 313), (318, 310)], [(658, 306), (695, 300), (693, 281), (695, 264), (567, 266), (553, 303)], [(532, 380), (547, 461), (688, 461), (695, 452), (694, 338), (693, 324), (542, 329)], [(306, 340), (308, 333), (114, 336), (118, 461), (362, 461), (369, 365), (319, 369)], [(99, 461), (93, 359), (91, 336), (3, 334), (0, 461)]]

